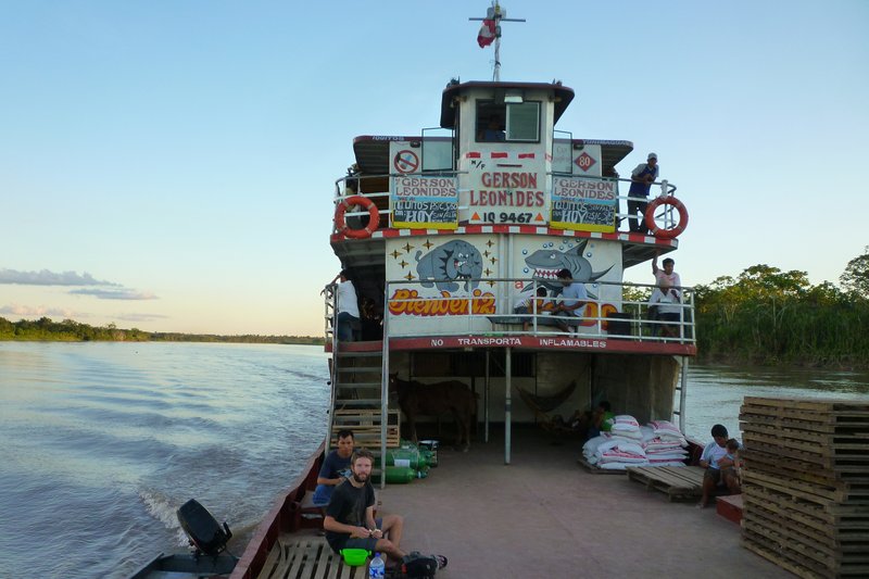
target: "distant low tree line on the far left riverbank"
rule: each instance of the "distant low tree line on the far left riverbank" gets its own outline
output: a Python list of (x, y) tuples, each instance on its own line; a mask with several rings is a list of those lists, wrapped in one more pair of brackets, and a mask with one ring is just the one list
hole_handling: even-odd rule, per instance
[(21, 319), (10, 322), (0, 317), (0, 340), (21, 341), (115, 341), (115, 342), (237, 342), (237, 343), (278, 343), (322, 345), (323, 338), (313, 336), (216, 336), (212, 333), (150, 332), (138, 328), (122, 329), (114, 324), (89, 326), (73, 319), (53, 322), (41, 317), (36, 320)]

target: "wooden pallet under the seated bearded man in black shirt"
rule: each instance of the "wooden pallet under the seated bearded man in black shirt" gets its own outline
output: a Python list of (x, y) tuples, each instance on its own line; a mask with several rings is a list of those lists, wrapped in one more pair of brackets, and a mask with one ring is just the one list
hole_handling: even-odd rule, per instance
[(259, 579), (365, 579), (368, 566), (349, 567), (325, 537), (281, 534), (266, 558)]

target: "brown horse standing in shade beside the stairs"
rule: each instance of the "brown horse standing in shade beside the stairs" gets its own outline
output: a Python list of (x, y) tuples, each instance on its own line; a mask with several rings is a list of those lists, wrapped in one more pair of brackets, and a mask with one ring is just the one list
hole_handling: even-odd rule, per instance
[(423, 383), (406, 381), (396, 374), (389, 375), (389, 392), (398, 394), (399, 406), (407, 417), (411, 438), (416, 442), (416, 417), (440, 416), (452, 411), (456, 424), (456, 446), (470, 449), (470, 425), (477, 415), (477, 397), (463, 382)]

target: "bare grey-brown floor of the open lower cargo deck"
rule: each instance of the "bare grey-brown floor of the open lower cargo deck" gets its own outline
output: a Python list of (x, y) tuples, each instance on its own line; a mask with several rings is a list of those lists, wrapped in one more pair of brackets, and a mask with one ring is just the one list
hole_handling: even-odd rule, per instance
[(503, 450), (499, 429), (467, 453), (441, 446), (427, 479), (378, 491), (380, 512), (405, 518), (403, 550), (449, 558), (439, 578), (790, 577), (714, 508), (589, 474), (576, 440), (516, 427), (509, 466)]

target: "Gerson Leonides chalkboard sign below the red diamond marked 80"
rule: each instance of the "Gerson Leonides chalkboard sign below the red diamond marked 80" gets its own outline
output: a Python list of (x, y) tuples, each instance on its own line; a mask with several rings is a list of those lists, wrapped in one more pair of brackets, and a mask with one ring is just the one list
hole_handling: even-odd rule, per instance
[(616, 230), (617, 196), (615, 180), (553, 177), (552, 227), (612, 234)]

